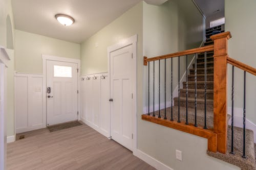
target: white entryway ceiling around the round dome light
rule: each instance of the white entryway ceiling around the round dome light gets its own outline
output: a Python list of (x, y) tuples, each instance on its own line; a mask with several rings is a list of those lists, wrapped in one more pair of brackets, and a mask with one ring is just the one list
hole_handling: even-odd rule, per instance
[[(12, 0), (12, 8), (16, 29), (80, 43), (140, 1)], [(75, 23), (62, 26), (54, 17), (57, 13), (72, 16)]]

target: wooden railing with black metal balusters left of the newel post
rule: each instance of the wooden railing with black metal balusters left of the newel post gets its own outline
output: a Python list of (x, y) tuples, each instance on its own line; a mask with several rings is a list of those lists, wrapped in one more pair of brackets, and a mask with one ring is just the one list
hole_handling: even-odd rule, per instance
[[(211, 152), (217, 151), (217, 133), (214, 132), (214, 129), (207, 127), (207, 109), (206, 109), (206, 98), (207, 98), (207, 67), (206, 67), (206, 61), (207, 61), (207, 52), (214, 51), (214, 45), (207, 45), (199, 48), (194, 48), (191, 50), (182, 51), (179, 53), (173, 53), (153, 58), (147, 58), (144, 57), (144, 65), (147, 66), (147, 77), (148, 77), (148, 87), (147, 87), (147, 94), (148, 94), (148, 106), (147, 106), (147, 114), (142, 115), (143, 120), (147, 120), (149, 122), (153, 122), (156, 124), (160, 124), (166, 127), (174, 128), (177, 130), (181, 130), (183, 132), (191, 133), (194, 135), (198, 135), (204, 138), (208, 139), (208, 150)], [(205, 64), (203, 66), (203, 74), (204, 74), (204, 123), (203, 125), (199, 125), (197, 122), (197, 56), (199, 53), (204, 53), (204, 61)], [(188, 68), (187, 68), (187, 59), (188, 55), (195, 55), (195, 102), (194, 102), (194, 108), (195, 108), (195, 116), (194, 116), (194, 122), (190, 122), (188, 119)], [(181, 120), (180, 114), (180, 58), (185, 57), (186, 60), (186, 113), (185, 113), (185, 120)], [(178, 58), (178, 113), (177, 115), (174, 115), (173, 107), (170, 107), (170, 117), (167, 118), (166, 116), (166, 98), (168, 98), (171, 102), (170, 106), (173, 106), (173, 58)], [(170, 59), (170, 96), (166, 96), (166, 60)], [(163, 66), (161, 65), (161, 61), (164, 61)], [(158, 75), (156, 75), (156, 64), (158, 64)], [(151, 66), (153, 66), (153, 70), (151, 70)], [(164, 67), (164, 75), (160, 74), (160, 67)], [(153, 74), (153, 80), (150, 79), (151, 74)], [(167, 73), (168, 74), (168, 73)], [(155, 81), (156, 77), (158, 76), (158, 82)], [(160, 78), (164, 79), (164, 87), (163, 89), (160, 89)], [(168, 80), (167, 80), (168, 81)], [(150, 84), (153, 83), (153, 91), (150, 90)], [(155, 84), (158, 85), (158, 96), (155, 96)], [(168, 87), (169, 88), (169, 87)], [(161, 109), (160, 107), (160, 91), (164, 91), (164, 109)], [(150, 98), (151, 92), (153, 93), (153, 99)], [(155, 108), (155, 98), (158, 99), (158, 108)], [(153, 104), (153, 111), (150, 104)], [(162, 114), (161, 114), (162, 113)], [(202, 122), (202, 121), (201, 121)]]

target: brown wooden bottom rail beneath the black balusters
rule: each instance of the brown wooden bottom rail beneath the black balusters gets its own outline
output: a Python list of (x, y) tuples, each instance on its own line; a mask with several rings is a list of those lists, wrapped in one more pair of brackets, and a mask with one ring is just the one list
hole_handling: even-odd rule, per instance
[(217, 134), (214, 133), (213, 129), (203, 129), (203, 127), (195, 127), (193, 124), (185, 125), (185, 122), (177, 123), (175, 121), (170, 121), (167, 119), (162, 119), (158, 117), (153, 117), (150, 115), (141, 115), (143, 120), (159, 124), (165, 127), (180, 130), (186, 133), (197, 135), (208, 139), (208, 151), (217, 152)]

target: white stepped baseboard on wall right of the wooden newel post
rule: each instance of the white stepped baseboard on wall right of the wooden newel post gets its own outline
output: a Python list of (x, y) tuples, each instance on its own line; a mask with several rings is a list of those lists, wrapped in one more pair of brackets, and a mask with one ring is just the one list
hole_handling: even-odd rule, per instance
[[(227, 108), (227, 114), (230, 115), (228, 125), (231, 125), (231, 107)], [(246, 129), (250, 129), (254, 133), (254, 143), (256, 143), (256, 125), (246, 118), (245, 120)], [(234, 108), (234, 126), (243, 128), (243, 108)]]

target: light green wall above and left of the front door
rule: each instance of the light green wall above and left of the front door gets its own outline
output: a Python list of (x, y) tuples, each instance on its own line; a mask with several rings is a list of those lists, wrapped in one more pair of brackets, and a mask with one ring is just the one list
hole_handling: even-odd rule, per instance
[(80, 59), (80, 44), (15, 30), (15, 69), (42, 73), (42, 54)]

